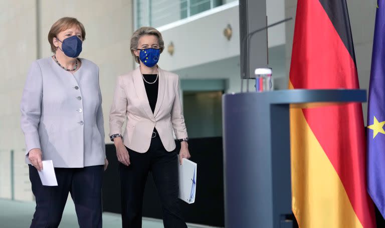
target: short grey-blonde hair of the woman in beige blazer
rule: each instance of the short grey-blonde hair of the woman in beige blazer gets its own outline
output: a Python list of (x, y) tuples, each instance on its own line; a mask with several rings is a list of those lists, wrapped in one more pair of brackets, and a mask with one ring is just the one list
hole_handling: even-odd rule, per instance
[(163, 38), (162, 38), (162, 35), (160, 34), (160, 32), (157, 31), (156, 29), (152, 28), (152, 27), (141, 27), (141, 28), (137, 29), (134, 32), (134, 34), (132, 34), (131, 44), (130, 44), (131, 54), (135, 58), (136, 63), (140, 63), (139, 57), (135, 56), (135, 53), (134, 53), (134, 51), (138, 49), (139, 39), (143, 36), (151, 36), (151, 35), (158, 38), (160, 53), (163, 52), (164, 41), (163, 41)]

